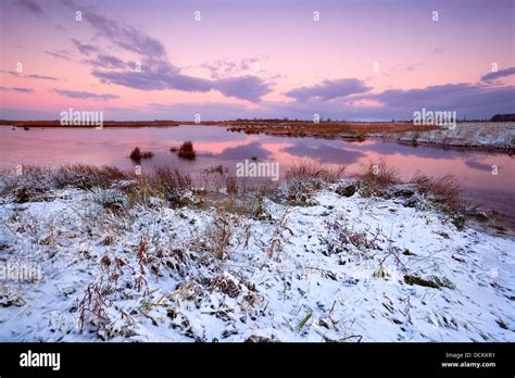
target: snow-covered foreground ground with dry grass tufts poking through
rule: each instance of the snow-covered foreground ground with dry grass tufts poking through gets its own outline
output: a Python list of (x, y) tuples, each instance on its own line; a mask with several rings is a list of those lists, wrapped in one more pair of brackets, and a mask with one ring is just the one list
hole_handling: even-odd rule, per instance
[(253, 215), (129, 207), (118, 189), (4, 197), (0, 263), (40, 279), (2, 282), (0, 341), (515, 341), (513, 238), (337, 188)]

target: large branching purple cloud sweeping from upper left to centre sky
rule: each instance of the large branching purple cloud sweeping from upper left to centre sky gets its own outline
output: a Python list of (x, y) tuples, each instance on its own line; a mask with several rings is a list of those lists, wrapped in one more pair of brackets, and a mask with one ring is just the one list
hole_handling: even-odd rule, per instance
[[(106, 18), (89, 9), (83, 10), (83, 17), (101, 36), (113, 45), (139, 56), (141, 72), (127, 67), (121, 59), (99, 54), (97, 59), (83, 60), (96, 66), (91, 74), (104, 84), (115, 84), (140, 90), (181, 90), (192, 92), (219, 91), (226, 97), (260, 102), (261, 98), (272, 91), (272, 85), (255, 75), (231, 76), (221, 78), (203, 78), (186, 75), (181, 70), (169, 63), (164, 46), (156, 38), (142, 30), (114, 20)], [(89, 54), (92, 50), (78, 40), (76, 47)], [(248, 67), (250, 61), (240, 62), (240, 68)]]

